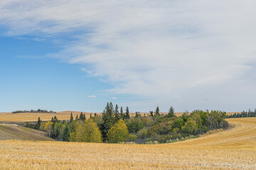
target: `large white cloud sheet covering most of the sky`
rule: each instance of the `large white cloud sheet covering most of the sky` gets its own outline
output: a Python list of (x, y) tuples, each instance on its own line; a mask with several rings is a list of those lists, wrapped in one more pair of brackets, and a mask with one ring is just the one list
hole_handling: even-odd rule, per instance
[[(232, 96), (246, 82), (256, 83), (247, 78), (255, 72), (250, 65), (255, 5), (252, 0), (13, 0), (1, 1), (0, 21), (9, 36), (70, 33), (74, 40), (48, 57), (85, 64), (81, 70), (112, 84), (107, 90), (112, 94), (142, 96), (151, 103), (175, 99), (180, 105), (208, 98), (220, 106), (218, 89), (228, 86), (224, 94)], [(223, 96), (230, 104), (240, 101), (228, 99)]]

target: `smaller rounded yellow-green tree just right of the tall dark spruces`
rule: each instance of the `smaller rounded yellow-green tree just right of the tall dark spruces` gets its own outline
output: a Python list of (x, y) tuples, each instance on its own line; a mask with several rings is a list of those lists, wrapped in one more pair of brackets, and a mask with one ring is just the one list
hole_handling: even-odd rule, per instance
[(107, 142), (118, 143), (124, 142), (129, 135), (127, 126), (124, 120), (120, 119), (115, 123), (112, 128), (107, 132)]

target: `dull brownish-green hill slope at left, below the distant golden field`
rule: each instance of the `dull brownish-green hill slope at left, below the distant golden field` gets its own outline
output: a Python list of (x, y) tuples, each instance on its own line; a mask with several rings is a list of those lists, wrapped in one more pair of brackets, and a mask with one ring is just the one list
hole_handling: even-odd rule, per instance
[(25, 128), (16, 124), (0, 123), (0, 140), (48, 140), (53, 141), (50, 137), (46, 137), (45, 132)]

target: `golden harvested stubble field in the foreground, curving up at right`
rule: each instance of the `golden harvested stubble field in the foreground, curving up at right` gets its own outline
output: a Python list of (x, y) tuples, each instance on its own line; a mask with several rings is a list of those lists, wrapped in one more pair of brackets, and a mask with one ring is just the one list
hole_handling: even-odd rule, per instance
[(0, 141), (0, 169), (256, 169), (256, 118), (164, 145)]

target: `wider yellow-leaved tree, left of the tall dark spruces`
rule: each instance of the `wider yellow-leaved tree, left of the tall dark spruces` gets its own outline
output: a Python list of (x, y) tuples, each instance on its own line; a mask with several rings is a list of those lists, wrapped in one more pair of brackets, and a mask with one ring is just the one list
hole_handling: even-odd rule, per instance
[(75, 132), (70, 134), (72, 142), (102, 142), (102, 135), (97, 124), (90, 118), (85, 123), (79, 123)]

